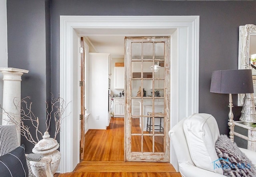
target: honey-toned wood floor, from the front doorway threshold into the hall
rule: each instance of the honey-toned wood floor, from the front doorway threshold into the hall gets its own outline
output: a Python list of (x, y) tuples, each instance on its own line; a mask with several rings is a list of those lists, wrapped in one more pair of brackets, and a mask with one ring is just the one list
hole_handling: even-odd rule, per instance
[(112, 118), (107, 130), (90, 129), (84, 147), (74, 171), (54, 177), (181, 177), (170, 163), (124, 162), (124, 118)]

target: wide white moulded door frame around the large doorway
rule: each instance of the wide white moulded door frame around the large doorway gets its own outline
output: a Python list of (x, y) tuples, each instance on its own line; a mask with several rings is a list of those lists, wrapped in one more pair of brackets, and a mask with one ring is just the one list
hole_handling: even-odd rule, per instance
[[(60, 173), (73, 171), (79, 163), (79, 58), (73, 45), (78, 28), (177, 29), (171, 36), (170, 128), (183, 117), (198, 113), (199, 16), (60, 16), (60, 97), (71, 101), (63, 114), (68, 117), (61, 124)], [(178, 171), (172, 145), (170, 163)]]

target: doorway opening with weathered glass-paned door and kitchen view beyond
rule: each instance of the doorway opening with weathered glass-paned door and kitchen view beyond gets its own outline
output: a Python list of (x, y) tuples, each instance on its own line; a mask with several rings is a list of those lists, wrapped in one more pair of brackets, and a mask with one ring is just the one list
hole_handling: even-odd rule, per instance
[[(174, 32), (174, 30), (172, 31)], [(147, 32), (147, 30), (144, 30), (144, 32)], [(135, 151), (137, 154), (136, 157), (140, 157), (140, 158), (132, 159), (132, 161), (160, 161), (160, 162), (170, 161), (170, 155), (169, 155), (170, 143), (169, 143), (169, 137), (168, 137), (168, 131), (170, 129), (170, 114), (169, 114), (170, 95), (168, 95), (168, 93), (170, 93), (170, 89), (169, 89), (170, 88), (170, 49), (171, 49), (170, 36), (125, 37), (125, 38), (120, 38), (120, 36), (118, 37), (116, 36), (107, 36), (107, 37), (106, 36), (100, 36), (100, 37), (85, 36), (85, 37), (82, 37), (81, 40), (83, 40), (84, 38), (86, 38), (86, 40), (81, 41), (81, 44), (82, 44), (81, 46), (83, 46), (83, 42), (84, 42), (90, 45), (89, 49), (93, 48), (93, 50), (89, 50), (91, 52), (89, 54), (90, 71), (86, 71), (86, 73), (88, 73), (89, 75), (90, 86), (89, 88), (85, 88), (85, 89), (89, 89), (90, 95), (93, 95), (92, 97), (89, 96), (90, 97), (89, 103), (87, 103), (88, 105), (90, 105), (89, 106), (90, 117), (88, 121), (89, 122), (88, 129), (90, 130), (88, 131), (89, 135), (85, 135), (85, 141), (87, 141), (86, 138), (88, 138), (86, 145), (85, 146), (80, 145), (80, 149), (82, 150), (81, 152), (85, 151), (85, 154), (86, 154), (85, 161), (95, 161), (95, 160), (111, 161), (111, 159), (117, 160), (116, 157), (112, 157), (113, 155), (115, 155), (114, 153), (108, 154), (108, 152), (112, 151), (113, 148), (116, 149), (115, 152), (117, 153), (117, 155), (122, 154), (121, 157), (118, 158), (119, 161), (124, 161), (124, 160), (131, 161), (130, 156), (132, 156), (132, 152), (127, 151), (128, 149), (131, 149), (129, 148), (129, 145), (131, 145), (132, 147), (136, 145), (140, 145), (140, 148), (142, 148), (141, 153), (143, 153), (143, 155), (145, 155), (146, 157), (145, 159), (143, 155), (141, 154), (138, 155), (138, 149), (137, 149)], [(129, 41), (128, 39), (130, 38), (134, 38), (133, 40), (136, 39), (136, 42), (132, 42), (132, 44), (134, 45), (136, 44), (135, 46), (133, 45), (127, 46)], [(109, 42), (111, 39), (115, 41), (116, 44)], [(123, 42), (124, 40), (125, 42)], [(111, 43), (112, 48), (109, 47), (110, 46), (109, 43)], [(126, 46), (124, 46), (124, 43), (126, 44)], [(102, 46), (106, 48), (105, 49), (106, 51), (102, 49)], [(122, 65), (121, 67), (117, 67), (114, 61), (117, 61), (116, 58), (118, 54), (116, 54), (116, 50), (120, 46), (122, 46), (121, 52), (125, 54), (122, 54), (122, 53), (119, 54), (119, 58), (122, 59), (122, 62), (124, 64), (124, 55), (125, 55), (126, 60), (135, 60), (134, 62), (132, 62), (132, 64), (126, 61), (125, 67), (124, 65)], [(126, 52), (124, 52), (124, 48), (126, 48), (125, 50)], [(131, 51), (131, 50), (134, 52), (133, 55), (135, 55), (132, 57), (132, 59), (129, 58), (130, 56), (127, 56), (129, 55), (127, 51)], [(110, 54), (103, 53), (103, 52), (110, 52)], [(112, 62), (110, 62), (110, 58), (112, 58), (110, 56), (114, 56), (114, 59), (112, 59)], [(143, 59), (141, 57), (143, 57)], [(157, 71), (152, 69), (152, 65), (156, 63), (158, 64)], [(117, 64), (120, 64), (120, 63), (117, 63)], [(107, 65), (109, 65), (109, 67), (107, 67)], [(140, 70), (140, 68), (142, 67), (143, 67), (143, 70)], [(156, 65), (154, 65), (154, 67), (156, 67)], [(125, 77), (124, 68), (127, 72), (132, 71), (132, 74), (131, 73), (126, 74), (126, 84), (124, 84), (124, 77)], [(118, 72), (119, 69), (121, 69), (120, 72)], [(114, 72), (111, 73), (111, 70), (112, 71), (114, 70)], [(135, 76), (135, 74), (136, 75), (139, 74), (140, 77), (142, 76), (142, 80), (139, 80), (139, 77)], [(144, 76), (144, 74), (147, 74), (147, 76)], [(126, 125), (129, 124), (132, 127), (130, 128), (125, 127), (125, 129), (124, 127), (122, 127), (123, 128), (121, 131), (122, 133), (118, 133), (118, 135), (120, 135), (121, 137), (117, 137), (117, 136), (115, 137), (116, 139), (121, 138), (120, 141), (122, 142), (124, 142), (123, 139), (126, 138), (125, 147), (127, 148), (126, 148), (126, 154), (124, 154), (124, 148), (121, 148), (122, 146), (124, 146), (124, 143), (122, 143), (121, 147), (119, 146), (115, 147), (115, 143), (106, 141), (106, 137), (108, 137), (109, 132), (120, 128), (118, 126), (112, 126), (112, 125), (113, 124), (121, 125), (122, 123), (122, 125), (124, 126), (124, 120), (121, 118), (118, 118), (118, 119), (121, 119), (118, 121), (118, 119), (115, 118), (113, 120), (115, 121), (115, 123), (113, 121), (110, 123), (110, 126), (109, 126), (110, 129), (108, 129), (107, 131), (104, 131), (104, 130), (101, 131), (99, 129), (104, 129), (105, 126), (109, 125), (109, 122), (106, 121), (108, 117), (107, 115), (108, 109), (106, 109), (107, 108), (106, 103), (108, 102), (107, 100), (108, 98), (106, 97), (106, 95), (104, 95), (104, 93), (107, 93), (107, 89), (109, 90), (108, 93), (112, 95), (118, 95), (118, 93), (116, 94), (116, 91), (119, 92), (119, 91), (122, 91), (123, 89), (124, 89), (123, 93), (126, 93), (126, 94), (130, 93), (130, 90), (126, 90), (126, 89), (127, 89), (127, 86), (129, 85), (128, 83), (130, 80), (128, 76), (131, 76), (131, 75), (133, 77), (132, 78), (133, 93), (128, 95), (130, 96), (132, 95), (132, 97), (134, 98), (136, 97), (136, 99), (134, 98), (132, 99), (132, 102), (130, 102), (131, 104), (128, 104), (130, 109), (126, 109), (126, 111), (132, 110), (132, 120), (140, 119), (140, 121), (138, 122), (140, 125), (140, 129), (143, 131), (141, 134), (142, 137), (140, 139), (139, 138), (134, 139), (134, 137), (140, 137), (140, 135), (138, 135), (138, 132), (135, 132), (135, 134), (134, 132), (132, 132), (136, 136), (133, 135), (132, 141), (128, 142), (128, 140), (130, 139), (128, 137), (128, 135), (130, 135), (130, 133), (128, 133), (129, 130), (135, 129), (137, 125), (135, 124), (134, 121), (130, 123), (127, 123), (126, 121)], [(116, 79), (120, 77), (121, 79)], [(107, 80), (108, 80), (108, 83), (106, 83)], [(114, 80), (115, 81), (114, 84), (110, 84), (110, 80), (112, 81)], [(81, 89), (83, 88), (83, 84), (80, 85), (80, 88)], [(134, 95), (135, 92), (137, 93), (138, 89), (140, 89), (141, 90), (140, 93), (142, 93), (142, 88), (145, 93), (144, 95), (142, 95), (143, 97), (141, 97), (140, 94)], [(150, 95), (150, 90), (151, 90), (151, 95)], [(148, 97), (146, 97), (146, 92), (148, 93)], [(156, 93), (156, 94), (152, 95), (152, 93)], [(127, 99), (125, 100), (124, 99), (125, 97), (121, 95), (124, 95), (124, 94), (120, 92), (120, 97), (113, 98), (113, 108), (114, 108), (113, 117), (120, 117), (120, 116), (125, 117), (124, 109), (125, 107), (127, 107), (127, 104), (125, 103), (128, 103), (129, 101), (131, 101), (131, 100), (127, 101)], [(142, 100), (144, 101), (142, 102)], [(151, 109), (150, 109), (150, 105), (148, 105), (150, 103), (151, 103)], [(156, 110), (154, 111), (152, 108)], [(143, 112), (145, 111), (147, 113), (151, 113), (151, 115), (149, 116), (144, 115)], [(129, 115), (129, 113), (128, 114), (126, 113), (126, 115)], [(142, 116), (143, 119), (140, 116)], [(127, 118), (129, 117), (125, 117), (125, 120), (127, 120)], [(146, 123), (146, 118), (150, 119), (150, 121), (148, 121), (147, 123)], [(81, 120), (81, 123), (82, 123), (82, 120)], [(159, 121), (160, 121), (160, 125), (158, 125)], [(145, 127), (146, 125), (149, 129), (147, 128), (147, 131), (144, 131), (145, 128), (142, 128), (142, 127), (143, 126)], [(155, 126), (160, 126), (160, 131), (158, 131), (158, 129), (155, 128)], [(84, 127), (81, 126), (81, 142), (83, 140), (82, 137), (84, 135), (83, 128)], [(91, 129), (93, 129), (93, 131)], [(127, 132), (126, 137), (124, 137), (124, 130), (125, 132)], [(104, 139), (102, 139), (102, 137), (100, 136), (98, 137), (98, 133), (96, 133), (97, 131), (105, 132), (106, 137), (104, 137)], [(90, 137), (91, 136), (90, 134), (95, 134), (95, 137), (94, 138)], [(113, 134), (113, 133), (110, 133), (110, 134)], [(92, 142), (93, 139), (95, 138), (97, 138), (95, 140), (97, 142), (96, 144)], [(110, 141), (112, 141), (112, 137), (109, 137), (109, 138), (110, 138)], [(100, 139), (100, 141), (98, 139)], [(108, 145), (108, 147), (106, 147), (106, 145)], [(112, 147), (110, 147), (109, 145), (111, 145)], [(105, 150), (109, 149), (106, 152), (104, 152), (104, 153), (107, 153), (107, 158), (105, 157), (105, 155), (100, 155), (100, 153), (102, 153), (102, 150), (100, 150), (99, 151), (100, 153), (98, 154), (95, 154), (94, 152), (91, 151), (91, 148), (100, 149), (99, 147), (102, 147), (102, 148), (104, 147), (103, 149)], [(94, 155), (90, 155), (90, 153), (93, 153)], [(98, 155), (100, 155), (100, 157), (98, 157)], [(81, 156), (80, 156), (80, 159), (83, 159), (84, 156), (82, 157)], [(125, 156), (125, 159), (124, 159), (124, 156)], [(135, 156), (133, 155), (133, 157)]]

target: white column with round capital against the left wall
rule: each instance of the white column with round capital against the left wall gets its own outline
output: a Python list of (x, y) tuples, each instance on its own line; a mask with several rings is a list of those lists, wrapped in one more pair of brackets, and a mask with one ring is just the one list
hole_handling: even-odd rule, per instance
[(20, 145), (20, 82), (21, 76), (28, 73), (28, 70), (0, 68), (0, 72), (2, 72), (4, 80), (2, 125), (14, 124), (10, 119), (16, 121), (18, 143)]

